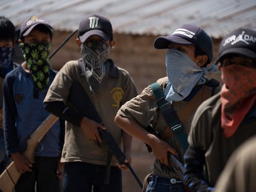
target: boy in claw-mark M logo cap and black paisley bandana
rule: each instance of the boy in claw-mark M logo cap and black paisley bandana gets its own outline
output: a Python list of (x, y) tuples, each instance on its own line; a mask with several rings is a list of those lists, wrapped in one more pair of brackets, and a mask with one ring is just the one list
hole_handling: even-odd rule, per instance
[[(103, 15), (84, 17), (79, 25), (77, 44), (82, 58), (67, 62), (56, 75), (45, 98), (45, 108), (66, 120), (61, 162), (64, 167), (64, 191), (122, 191), (121, 170), (126, 165), (110, 162), (109, 182), (105, 182), (108, 146), (102, 143), (98, 128), (108, 130), (131, 161), (131, 136), (114, 125), (114, 116), (122, 104), (137, 94), (129, 73), (109, 59), (114, 46), (113, 30)], [(67, 107), (72, 83), (79, 82), (104, 126)], [(77, 99), (83, 99), (77, 95)], [(86, 107), (86, 106), (85, 106)], [(90, 109), (87, 109), (90, 112)], [(113, 156), (114, 157), (114, 156)]]

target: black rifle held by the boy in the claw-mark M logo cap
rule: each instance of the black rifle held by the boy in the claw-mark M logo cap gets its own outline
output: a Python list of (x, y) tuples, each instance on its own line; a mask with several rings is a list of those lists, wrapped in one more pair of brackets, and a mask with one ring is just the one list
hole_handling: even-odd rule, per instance
[[(95, 107), (93, 106), (92, 101), (90, 100), (90, 98), (88, 98), (87, 93), (85, 92), (85, 90), (83, 90), (83, 88), (79, 82), (73, 82), (73, 84), (70, 88), (68, 103), (69, 103), (68, 106), (71, 109), (74, 109), (75, 111), (80, 112), (80, 114), (83, 114), (88, 119), (92, 119), (98, 123), (103, 123), (100, 118), (100, 115), (98, 114)], [(98, 131), (100, 133), (102, 140), (108, 144), (108, 148), (109, 148), (109, 155), (108, 155), (109, 157), (108, 157), (108, 161), (107, 161), (105, 183), (108, 183), (108, 181), (109, 181), (110, 167), (108, 166), (108, 164), (111, 161), (112, 154), (114, 154), (114, 156), (116, 156), (116, 159), (119, 162), (119, 164), (125, 164), (129, 168), (130, 172), (132, 173), (132, 175), (134, 176), (134, 178), (137, 180), (140, 187), (142, 188), (142, 183), (140, 182), (139, 178), (135, 174), (131, 165), (129, 163), (124, 162), (126, 159), (126, 156), (122, 152), (122, 150), (119, 148), (119, 146), (116, 143), (116, 140), (114, 140), (113, 136), (109, 133), (108, 130), (98, 129)]]

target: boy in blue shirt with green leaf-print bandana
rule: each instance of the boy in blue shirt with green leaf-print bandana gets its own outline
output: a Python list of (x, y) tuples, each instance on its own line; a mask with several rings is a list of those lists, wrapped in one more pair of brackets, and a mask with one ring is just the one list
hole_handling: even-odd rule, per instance
[(45, 20), (30, 17), (20, 27), (19, 44), (25, 62), (4, 80), (4, 137), (6, 152), (22, 173), (15, 191), (59, 191), (62, 166), (61, 123), (57, 121), (42, 138), (35, 151), (35, 162), (22, 152), (33, 131), (48, 117), (43, 99), (56, 72), (49, 67), (53, 29)]

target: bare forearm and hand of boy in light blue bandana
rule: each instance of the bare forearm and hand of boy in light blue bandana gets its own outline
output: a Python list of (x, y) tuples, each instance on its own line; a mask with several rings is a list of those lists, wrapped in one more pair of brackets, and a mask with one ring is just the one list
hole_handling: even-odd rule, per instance
[(159, 159), (162, 164), (169, 165), (168, 152), (176, 154), (175, 150), (171, 148), (169, 144), (155, 135), (148, 133), (148, 131), (141, 127), (139, 123), (135, 122), (135, 120), (117, 114), (114, 122), (118, 127), (122, 128), (122, 130), (129, 133), (129, 135), (147, 143), (152, 148), (154, 156)]

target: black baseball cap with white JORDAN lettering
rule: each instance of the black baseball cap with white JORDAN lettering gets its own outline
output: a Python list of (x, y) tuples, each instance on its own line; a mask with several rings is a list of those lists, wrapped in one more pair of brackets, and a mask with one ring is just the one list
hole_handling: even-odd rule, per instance
[(220, 43), (215, 64), (228, 54), (239, 54), (256, 60), (256, 31), (249, 28), (237, 28), (226, 35)]

